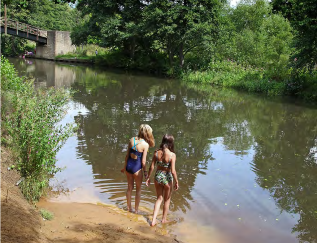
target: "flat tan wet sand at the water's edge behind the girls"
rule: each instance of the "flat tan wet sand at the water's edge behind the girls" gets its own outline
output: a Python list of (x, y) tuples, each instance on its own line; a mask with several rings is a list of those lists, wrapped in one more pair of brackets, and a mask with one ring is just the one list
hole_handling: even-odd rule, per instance
[(55, 215), (54, 220), (44, 221), (41, 229), (54, 242), (176, 242), (164, 230), (150, 227), (144, 216), (128, 212), (124, 215), (111, 206), (50, 201), (41, 201), (37, 206)]

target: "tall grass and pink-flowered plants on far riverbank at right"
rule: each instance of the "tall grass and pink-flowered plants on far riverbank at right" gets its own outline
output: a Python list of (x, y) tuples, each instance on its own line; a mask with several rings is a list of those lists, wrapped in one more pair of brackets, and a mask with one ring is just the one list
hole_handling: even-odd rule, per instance
[(252, 93), (296, 96), (317, 101), (317, 70), (243, 67), (233, 61), (211, 62), (205, 71), (180, 74), (188, 83), (210, 84)]

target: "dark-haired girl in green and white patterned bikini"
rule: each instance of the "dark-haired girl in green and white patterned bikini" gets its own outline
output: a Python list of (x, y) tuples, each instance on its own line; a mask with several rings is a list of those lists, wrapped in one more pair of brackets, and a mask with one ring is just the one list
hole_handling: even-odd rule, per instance
[(155, 202), (153, 219), (151, 226), (156, 224), (156, 217), (159, 213), (159, 208), (163, 201), (164, 195), (164, 208), (162, 223), (166, 223), (166, 216), (170, 207), (171, 195), (173, 190), (173, 179), (175, 181), (174, 190), (178, 190), (178, 180), (175, 170), (176, 155), (174, 154), (174, 137), (170, 134), (165, 134), (159, 149), (154, 152), (152, 164), (149, 169), (149, 173), (146, 179), (146, 186), (149, 186), (150, 176), (153, 172), (155, 163), (158, 164), (158, 168), (154, 177), (154, 184), (157, 194), (157, 200)]

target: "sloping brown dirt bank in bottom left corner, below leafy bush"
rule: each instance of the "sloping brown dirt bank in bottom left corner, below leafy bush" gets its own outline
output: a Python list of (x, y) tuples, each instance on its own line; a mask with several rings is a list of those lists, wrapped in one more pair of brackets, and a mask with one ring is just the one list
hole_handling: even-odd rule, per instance
[(46, 243), (41, 233), (42, 219), (36, 209), (25, 201), (19, 188), (20, 179), (14, 169), (8, 171), (16, 158), (13, 153), (1, 147), (1, 242)]

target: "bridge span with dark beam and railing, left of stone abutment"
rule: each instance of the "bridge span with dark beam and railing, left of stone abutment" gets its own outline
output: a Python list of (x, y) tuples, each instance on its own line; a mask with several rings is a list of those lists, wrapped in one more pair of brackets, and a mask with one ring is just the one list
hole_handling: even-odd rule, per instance
[(47, 44), (47, 32), (35, 26), (6, 17), (0, 19), (1, 33), (16, 35), (31, 41)]

